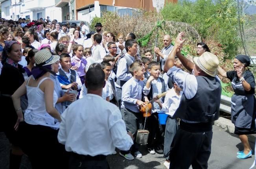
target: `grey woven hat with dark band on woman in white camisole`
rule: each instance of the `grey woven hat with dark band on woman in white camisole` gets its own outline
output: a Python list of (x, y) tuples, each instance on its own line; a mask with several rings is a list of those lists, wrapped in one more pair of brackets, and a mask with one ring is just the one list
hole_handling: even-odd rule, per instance
[(39, 50), (35, 54), (35, 65), (36, 66), (46, 66), (52, 65), (59, 60), (58, 55), (52, 55), (52, 53), (47, 49)]

